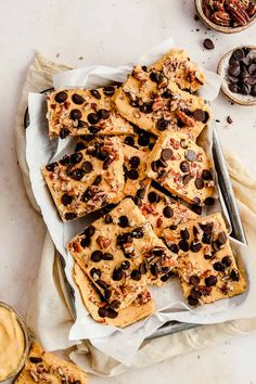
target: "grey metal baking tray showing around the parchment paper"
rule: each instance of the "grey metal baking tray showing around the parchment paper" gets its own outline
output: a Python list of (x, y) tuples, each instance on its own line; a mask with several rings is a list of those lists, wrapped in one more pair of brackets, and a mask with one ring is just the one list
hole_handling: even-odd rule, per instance
[[(41, 93), (51, 90), (52, 89), (49, 89), (42, 91)], [(24, 127), (26, 128), (28, 125), (29, 125), (29, 115), (28, 115), (28, 110), (26, 110), (24, 116)], [(229, 216), (230, 227), (231, 227), (231, 236), (240, 241), (241, 243), (247, 244), (216, 127), (214, 127), (213, 129), (213, 157), (214, 157), (216, 172), (218, 175), (218, 184), (220, 190), (219, 192), (221, 194), (221, 197), (223, 199), (225, 205), (228, 210), (228, 216)], [(69, 312), (72, 317), (76, 319), (74, 289), (66, 279), (64, 257), (57, 252), (56, 255), (57, 255), (56, 265), (57, 265), (62, 291), (67, 307), (69, 309)], [(191, 330), (196, 327), (200, 327), (200, 324), (168, 321), (164, 325), (162, 325), (158, 330), (156, 330), (151, 336), (149, 336), (148, 340)]]

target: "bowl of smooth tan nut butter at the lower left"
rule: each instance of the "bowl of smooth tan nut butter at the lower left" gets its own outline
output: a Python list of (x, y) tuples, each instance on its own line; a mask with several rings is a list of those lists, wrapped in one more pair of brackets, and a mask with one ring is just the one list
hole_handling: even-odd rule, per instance
[(15, 376), (29, 350), (29, 337), (21, 316), (0, 302), (0, 382)]

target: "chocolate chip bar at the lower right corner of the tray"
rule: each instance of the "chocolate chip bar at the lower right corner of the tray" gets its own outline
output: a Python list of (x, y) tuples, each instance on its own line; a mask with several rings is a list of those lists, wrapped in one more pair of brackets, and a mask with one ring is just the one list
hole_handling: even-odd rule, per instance
[(164, 231), (178, 252), (178, 274), (189, 305), (213, 303), (245, 291), (220, 214), (201, 217)]

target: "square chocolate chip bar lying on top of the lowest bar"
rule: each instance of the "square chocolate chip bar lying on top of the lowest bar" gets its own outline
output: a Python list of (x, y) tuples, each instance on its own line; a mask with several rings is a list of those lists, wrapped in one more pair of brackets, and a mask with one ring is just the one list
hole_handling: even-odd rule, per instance
[(131, 199), (75, 236), (67, 249), (108, 303), (126, 308), (146, 283), (162, 285), (176, 255), (153, 232)]

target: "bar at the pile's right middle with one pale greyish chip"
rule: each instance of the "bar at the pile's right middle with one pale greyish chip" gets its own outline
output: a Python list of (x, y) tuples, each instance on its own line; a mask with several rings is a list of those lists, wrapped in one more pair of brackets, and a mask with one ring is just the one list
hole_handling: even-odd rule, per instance
[(188, 203), (214, 203), (210, 161), (184, 133), (162, 133), (149, 156), (146, 175)]

